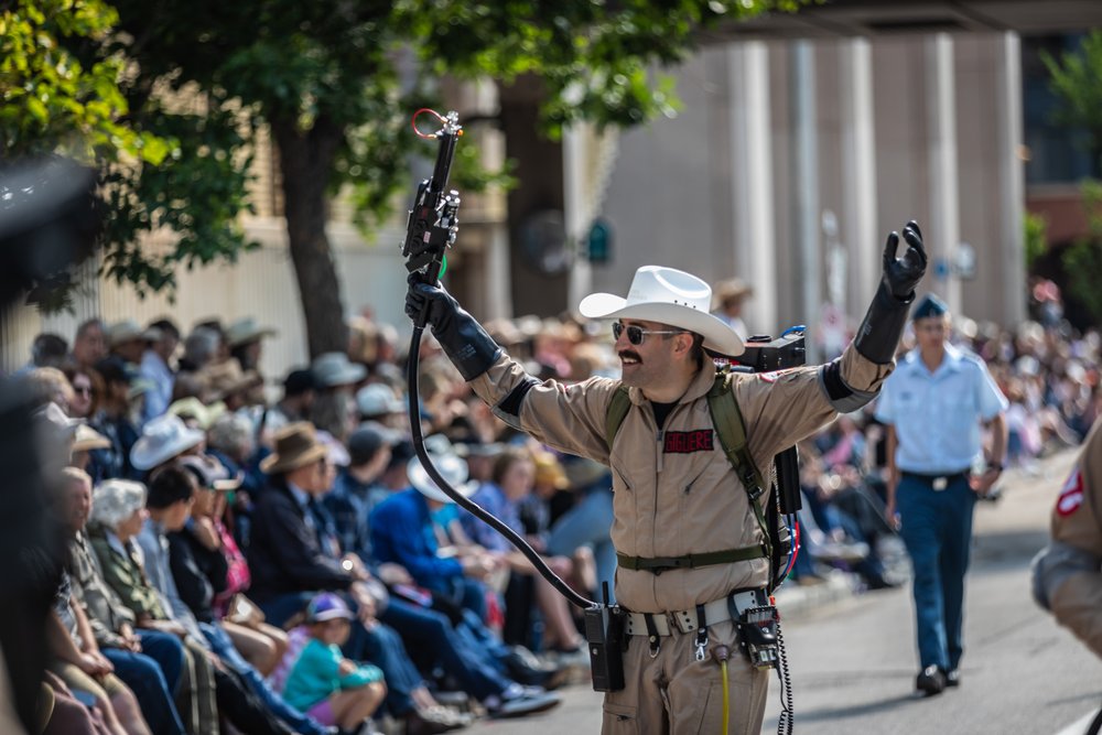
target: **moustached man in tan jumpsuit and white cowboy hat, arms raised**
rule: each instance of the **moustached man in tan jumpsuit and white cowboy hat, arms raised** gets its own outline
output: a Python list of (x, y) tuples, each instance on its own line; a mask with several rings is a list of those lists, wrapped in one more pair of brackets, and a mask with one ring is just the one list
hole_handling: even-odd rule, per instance
[[(918, 226), (908, 224), (904, 238), (907, 251), (897, 259), (898, 236), (888, 237), (876, 298), (839, 359), (738, 375), (731, 383), (758, 468), (768, 472), (776, 453), (838, 412), (868, 402), (892, 371), (907, 304), (926, 269)], [(707, 284), (647, 266), (636, 272), (627, 299), (587, 296), (583, 315), (619, 318), (613, 332), (623, 377), (566, 386), (529, 376), (454, 299), (415, 275), (407, 313), (415, 318), (428, 310), (444, 352), (499, 418), (549, 446), (613, 468), (616, 599), (634, 615), (624, 653), (626, 685), (605, 695), (603, 732), (721, 732), (721, 670), (710, 653), (722, 645), (731, 651), (731, 732), (759, 733), (768, 673), (738, 652), (727, 598), (764, 590), (769, 564), (747, 493), (712, 424), (706, 394), (715, 366), (701, 348), (737, 356), (743, 344), (709, 314)], [(631, 407), (608, 446), (606, 414), (622, 383)], [(699, 556), (712, 552), (712, 559)], [(733, 555), (743, 560), (714, 561)], [(746, 594), (757, 593), (743, 592), (738, 599)], [(703, 646), (695, 629), (700, 617)]]

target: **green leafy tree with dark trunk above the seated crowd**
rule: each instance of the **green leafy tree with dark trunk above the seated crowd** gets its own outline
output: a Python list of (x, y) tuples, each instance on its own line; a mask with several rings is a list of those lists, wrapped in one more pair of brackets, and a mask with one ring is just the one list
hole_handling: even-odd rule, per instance
[[(579, 120), (637, 125), (673, 114), (672, 83), (659, 72), (692, 50), (701, 28), (802, 1), (115, 0), (117, 17), (102, 0), (18, 7), (37, 10), (39, 25), (52, 22), (47, 8), (80, 9), (71, 13), (87, 25), (73, 63), (96, 71), (94, 111), (129, 136), (88, 137), (94, 147), (106, 140), (131, 153), (101, 159), (116, 213), (105, 268), (118, 279), (161, 289), (180, 261), (233, 258), (246, 247), (239, 215), (250, 208), (248, 163), (257, 130), (271, 130), (316, 353), (342, 348), (344, 338), (343, 327), (331, 326), (343, 313), (326, 199), (350, 187), (365, 227), (388, 214), (395, 192), (409, 188), (409, 154), (432, 153), (408, 122), (412, 109), (435, 101), (440, 78), (538, 77), (552, 136)], [(41, 55), (32, 41), (21, 43), (17, 57)], [(42, 132), (41, 110), (12, 111), (8, 102), (4, 116)], [(495, 181), (471, 163), (457, 161), (461, 179)], [(137, 245), (158, 229), (171, 247)]]

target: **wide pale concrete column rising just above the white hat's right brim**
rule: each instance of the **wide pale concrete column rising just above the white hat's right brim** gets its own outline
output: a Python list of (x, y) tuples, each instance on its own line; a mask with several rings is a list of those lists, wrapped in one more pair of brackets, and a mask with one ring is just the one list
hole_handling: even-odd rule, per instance
[(769, 127), (769, 55), (765, 43), (727, 47), (731, 80), (731, 217), (735, 269), (754, 287), (743, 320), (756, 334), (776, 334), (777, 242), (774, 230)]

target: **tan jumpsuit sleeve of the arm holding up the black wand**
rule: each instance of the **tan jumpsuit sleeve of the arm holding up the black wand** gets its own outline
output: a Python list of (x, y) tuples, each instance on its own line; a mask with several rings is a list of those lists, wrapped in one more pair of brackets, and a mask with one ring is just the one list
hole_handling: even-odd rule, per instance
[(495, 415), (561, 452), (608, 464), (605, 415), (618, 380), (539, 381), (504, 354), (471, 381)]

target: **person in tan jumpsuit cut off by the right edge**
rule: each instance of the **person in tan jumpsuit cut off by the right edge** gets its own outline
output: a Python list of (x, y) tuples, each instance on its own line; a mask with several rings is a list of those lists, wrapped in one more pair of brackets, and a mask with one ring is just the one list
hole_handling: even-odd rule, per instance
[(1052, 542), (1035, 562), (1034, 594), (1102, 657), (1102, 421), (1052, 509)]

